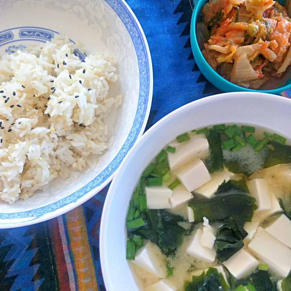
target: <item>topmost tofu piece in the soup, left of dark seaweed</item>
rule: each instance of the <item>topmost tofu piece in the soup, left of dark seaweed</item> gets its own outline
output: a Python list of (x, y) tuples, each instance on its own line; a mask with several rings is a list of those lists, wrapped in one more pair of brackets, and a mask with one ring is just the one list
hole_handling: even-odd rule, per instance
[(176, 152), (168, 153), (170, 169), (177, 168), (191, 158), (202, 158), (209, 154), (209, 144), (204, 134), (193, 135), (186, 142), (175, 144)]

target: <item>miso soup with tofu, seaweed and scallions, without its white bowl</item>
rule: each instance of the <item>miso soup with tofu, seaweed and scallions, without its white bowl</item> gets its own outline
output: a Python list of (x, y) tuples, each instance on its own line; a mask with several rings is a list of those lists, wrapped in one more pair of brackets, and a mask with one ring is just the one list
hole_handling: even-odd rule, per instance
[(130, 201), (140, 291), (291, 291), (291, 146), (252, 126), (179, 135)]

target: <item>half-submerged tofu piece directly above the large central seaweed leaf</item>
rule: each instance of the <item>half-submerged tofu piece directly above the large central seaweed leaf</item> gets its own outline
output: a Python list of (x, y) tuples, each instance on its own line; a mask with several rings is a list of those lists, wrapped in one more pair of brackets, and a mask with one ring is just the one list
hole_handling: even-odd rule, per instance
[(220, 171), (211, 176), (211, 180), (195, 190), (196, 193), (206, 198), (212, 198), (218, 187), (225, 181), (228, 182), (234, 176), (231, 172)]

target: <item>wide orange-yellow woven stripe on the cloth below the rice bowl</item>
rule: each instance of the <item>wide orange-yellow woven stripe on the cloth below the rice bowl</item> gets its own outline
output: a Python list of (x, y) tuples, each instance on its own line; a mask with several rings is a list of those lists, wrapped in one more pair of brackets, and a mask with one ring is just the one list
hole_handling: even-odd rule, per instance
[(98, 291), (82, 206), (65, 214), (79, 291)]

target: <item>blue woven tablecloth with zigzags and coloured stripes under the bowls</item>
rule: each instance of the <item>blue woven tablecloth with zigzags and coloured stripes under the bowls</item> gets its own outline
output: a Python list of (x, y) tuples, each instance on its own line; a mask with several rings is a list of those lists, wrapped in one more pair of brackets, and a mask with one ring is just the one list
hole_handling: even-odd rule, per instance
[[(127, 0), (146, 34), (154, 92), (146, 129), (180, 106), (220, 93), (190, 46), (192, 0)], [(283, 92), (291, 96), (291, 92)], [(1, 291), (105, 291), (99, 231), (108, 187), (82, 206), (37, 225), (0, 230)]]

